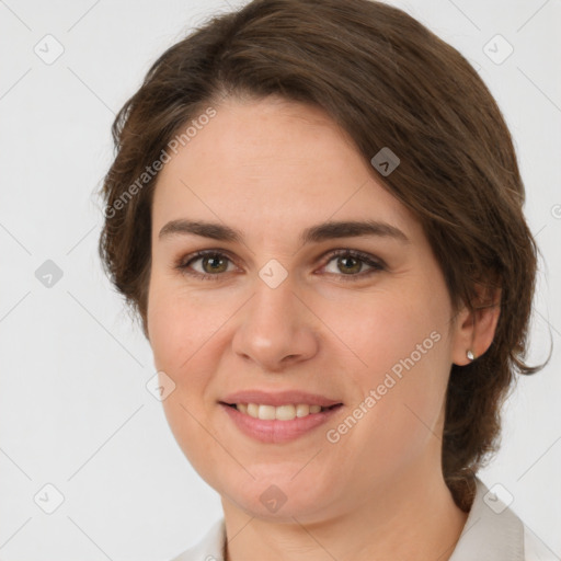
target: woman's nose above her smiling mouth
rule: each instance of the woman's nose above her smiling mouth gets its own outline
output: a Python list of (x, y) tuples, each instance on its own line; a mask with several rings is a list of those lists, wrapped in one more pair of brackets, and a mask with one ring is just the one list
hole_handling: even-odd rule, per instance
[(288, 278), (276, 288), (257, 278), (253, 297), (237, 317), (233, 351), (261, 371), (282, 373), (318, 353), (320, 321)]

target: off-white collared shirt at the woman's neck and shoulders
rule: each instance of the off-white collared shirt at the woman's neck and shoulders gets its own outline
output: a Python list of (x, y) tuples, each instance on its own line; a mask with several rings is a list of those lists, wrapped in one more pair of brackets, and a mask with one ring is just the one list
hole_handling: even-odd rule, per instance
[[(473, 504), (449, 561), (561, 560), (479, 478), (476, 482)], [(225, 561), (225, 546), (222, 517), (196, 546), (172, 561)]]

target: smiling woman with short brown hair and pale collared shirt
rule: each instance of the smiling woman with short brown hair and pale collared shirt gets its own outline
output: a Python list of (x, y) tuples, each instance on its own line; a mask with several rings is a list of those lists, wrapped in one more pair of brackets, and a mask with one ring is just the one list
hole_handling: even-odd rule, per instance
[(101, 255), (224, 508), (178, 561), (547, 559), (477, 477), (540, 368), (537, 249), (458, 51), (379, 2), (254, 1), (113, 133)]

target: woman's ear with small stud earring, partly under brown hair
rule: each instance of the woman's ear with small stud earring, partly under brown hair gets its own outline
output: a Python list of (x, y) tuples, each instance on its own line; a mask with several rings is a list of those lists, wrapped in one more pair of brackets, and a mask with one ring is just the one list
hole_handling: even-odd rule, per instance
[(501, 313), (501, 289), (478, 284), (477, 293), (474, 309), (463, 305), (455, 320), (451, 360), (458, 366), (471, 363), (466, 355), (468, 351), (476, 359), (484, 354), (495, 335)]

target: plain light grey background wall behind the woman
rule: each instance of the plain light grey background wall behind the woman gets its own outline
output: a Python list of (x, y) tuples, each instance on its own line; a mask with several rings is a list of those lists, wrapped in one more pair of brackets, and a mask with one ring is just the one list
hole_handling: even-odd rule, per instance
[[(514, 135), (526, 215), (543, 254), (530, 358), (481, 472), (561, 556), (561, 2), (391, 2), (473, 64)], [(92, 193), (111, 163), (114, 113), (150, 64), (218, 0), (0, 0), (0, 559), (169, 559), (221, 515), (146, 389), (150, 347), (96, 256)], [(55, 53), (51, 65), (34, 51)], [(483, 47), (514, 47), (495, 64)], [(46, 41), (51, 43), (46, 45)], [(495, 57), (506, 51), (490, 44)], [(50, 288), (35, 271), (53, 260)], [(56, 493), (64, 495), (53, 513)], [(503, 489), (504, 488), (504, 489)], [(37, 495), (38, 493), (38, 495)], [(34, 496), (37, 497), (37, 503)], [(506, 495), (507, 496), (507, 495)]]

